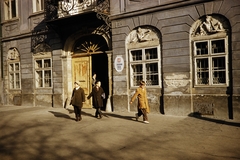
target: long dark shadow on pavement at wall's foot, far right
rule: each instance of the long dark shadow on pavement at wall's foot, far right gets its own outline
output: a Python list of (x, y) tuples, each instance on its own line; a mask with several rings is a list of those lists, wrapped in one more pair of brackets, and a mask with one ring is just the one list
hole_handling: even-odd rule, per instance
[(240, 123), (238, 123), (238, 122), (228, 122), (228, 121), (225, 121), (225, 120), (203, 117), (199, 113), (190, 113), (188, 116), (193, 117), (193, 118), (197, 118), (197, 119), (200, 119), (200, 120), (205, 120), (205, 121), (209, 121), (209, 122), (218, 123), (218, 124), (225, 124), (225, 125), (229, 125), (229, 126), (240, 127)]

